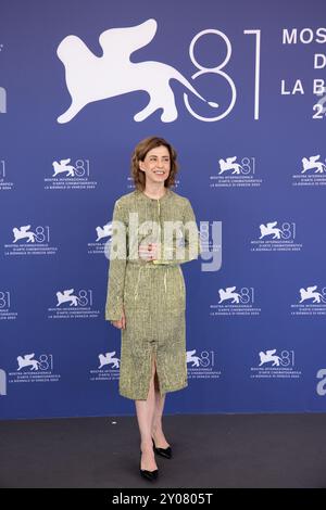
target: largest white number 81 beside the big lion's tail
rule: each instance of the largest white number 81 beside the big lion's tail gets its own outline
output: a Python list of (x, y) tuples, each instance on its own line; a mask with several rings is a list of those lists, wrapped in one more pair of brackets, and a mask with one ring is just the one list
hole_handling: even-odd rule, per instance
[[(255, 30), (243, 30), (243, 34), (247, 34), (247, 35), (253, 35), (254, 38), (255, 38), (255, 58), (254, 58), (254, 99), (253, 99), (253, 118), (254, 120), (258, 120), (260, 118), (260, 61), (261, 61), (261, 30), (259, 29), (255, 29)], [(226, 44), (226, 56), (224, 59), (224, 61), (215, 66), (215, 67), (205, 67), (203, 65), (201, 65), (197, 59), (195, 58), (195, 47), (197, 44), (197, 42), (199, 41), (199, 39), (203, 36), (206, 36), (206, 35), (215, 35), (217, 37), (221, 37), (222, 40), (225, 42)], [(200, 31), (199, 34), (197, 34), (193, 39), (191, 40), (190, 42), (190, 47), (189, 47), (189, 55), (190, 55), (190, 60), (192, 62), (192, 64), (195, 65), (195, 67), (197, 67), (197, 72), (191, 76), (191, 78), (193, 80), (196, 80), (198, 77), (200, 76), (203, 76), (203, 75), (206, 75), (206, 74), (214, 74), (214, 75), (217, 75), (217, 76), (221, 76), (223, 79), (225, 79), (227, 81), (227, 84), (229, 85), (229, 88), (230, 88), (230, 91), (231, 91), (231, 99), (230, 99), (230, 102), (228, 104), (228, 106), (226, 107), (226, 110), (222, 113), (220, 113), (220, 115), (215, 116), (215, 117), (203, 117), (201, 115), (199, 115), (198, 113), (196, 113), (192, 107), (190, 106), (190, 103), (189, 103), (189, 99), (188, 99), (188, 94), (185, 92), (184, 93), (184, 101), (185, 101), (185, 104), (186, 104), (186, 107), (188, 110), (188, 112), (195, 117), (197, 118), (198, 120), (202, 120), (202, 122), (205, 122), (205, 123), (213, 123), (213, 122), (216, 122), (216, 120), (221, 120), (222, 118), (226, 117), (229, 112), (231, 112), (235, 103), (236, 103), (236, 99), (237, 99), (237, 89), (236, 89), (236, 86), (235, 86), (235, 82), (234, 80), (230, 78), (229, 75), (227, 75), (223, 69), (224, 67), (227, 65), (227, 63), (229, 62), (229, 59), (231, 56), (231, 43), (230, 43), (230, 40), (226, 37), (225, 34), (223, 34), (223, 31), (220, 31), (217, 29), (213, 29), (213, 28), (209, 28), (206, 30), (202, 30)]]

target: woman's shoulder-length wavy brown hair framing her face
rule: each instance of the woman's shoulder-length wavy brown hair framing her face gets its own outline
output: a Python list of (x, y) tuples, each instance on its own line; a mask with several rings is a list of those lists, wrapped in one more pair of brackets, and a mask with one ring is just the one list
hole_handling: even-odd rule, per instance
[(136, 145), (133, 156), (131, 156), (131, 176), (136, 186), (137, 190), (143, 191), (145, 183), (146, 183), (146, 176), (145, 173), (139, 168), (139, 162), (143, 162), (146, 155), (149, 151), (154, 149), (155, 146), (164, 145), (168, 150), (170, 153), (170, 161), (171, 161), (171, 169), (170, 175), (164, 181), (165, 188), (171, 188), (175, 184), (175, 176), (178, 171), (178, 164), (177, 164), (177, 153), (175, 149), (168, 143), (164, 138), (159, 137), (149, 137)]

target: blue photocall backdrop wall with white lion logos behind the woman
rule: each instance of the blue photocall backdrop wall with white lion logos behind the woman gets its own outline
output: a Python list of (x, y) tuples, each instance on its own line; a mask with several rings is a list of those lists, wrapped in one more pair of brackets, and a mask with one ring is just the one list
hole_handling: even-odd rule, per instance
[(203, 246), (166, 412), (325, 411), (325, 71), (322, 0), (1, 3), (1, 419), (134, 413), (105, 253), (152, 135)]

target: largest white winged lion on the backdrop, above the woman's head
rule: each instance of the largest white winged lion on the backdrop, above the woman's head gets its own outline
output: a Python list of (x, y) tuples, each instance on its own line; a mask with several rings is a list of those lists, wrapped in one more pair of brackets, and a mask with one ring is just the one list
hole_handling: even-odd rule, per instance
[[(124, 28), (110, 28), (100, 35), (103, 50), (101, 56), (95, 55), (77, 36), (67, 36), (59, 44), (57, 54), (65, 67), (66, 87), (72, 104), (58, 122), (68, 123), (84, 106), (93, 101), (116, 95), (146, 91), (149, 104), (138, 112), (134, 119), (145, 120), (156, 110), (162, 110), (161, 120), (172, 123), (178, 116), (171, 79), (176, 79), (197, 98), (202, 98), (192, 85), (174, 67), (161, 62), (131, 62), (134, 51), (148, 44), (156, 33), (155, 20)], [(218, 107), (214, 102), (208, 102)]]

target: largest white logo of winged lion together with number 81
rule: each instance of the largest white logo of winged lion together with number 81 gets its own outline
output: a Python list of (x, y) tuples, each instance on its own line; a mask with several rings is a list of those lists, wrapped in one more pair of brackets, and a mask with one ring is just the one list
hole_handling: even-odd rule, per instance
[[(218, 103), (208, 101), (201, 95), (193, 82), (188, 80), (178, 69), (159, 61), (131, 62), (134, 51), (148, 44), (156, 33), (156, 21), (151, 18), (135, 27), (109, 28), (99, 37), (99, 43), (103, 50), (101, 56), (97, 56), (87, 44), (74, 35), (66, 36), (57, 49), (58, 58), (65, 68), (66, 88), (71, 95), (71, 105), (58, 117), (59, 124), (71, 122), (86, 105), (95, 101), (115, 98), (134, 91), (146, 91), (150, 98), (143, 110), (134, 115), (135, 122), (143, 122), (156, 111), (161, 111), (161, 120), (172, 123), (177, 119), (178, 111), (175, 104), (175, 94), (170, 81), (177, 80), (193, 97), (217, 110), (216, 116), (200, 115), (190, 106), (188, 94), (184, 93), (185, 105), (188, 112), (199, 120), (211, 123), (226, 117), (233, 110), (237, 90), (233, 78), (225, 72), (230, 55), (231, 43), (227, 36), (217, 29), (205, 29), (197, 34), (190, 42), (189, 54), (195, 67), (198, 69), (192, 75), (192, 81), (203, 75), (214, 75), (226, 84), (230, 90), (230, 100), (227, 99), (226, 107)], [(255, 68), (254, 68), (254, 119), (259, 119), (260, 102), (260, 52), (261, 30), (250, 29), (243, 31), (255, 38)], [(226, 46), (224, 61), (215, 66), (206, 67), (198, 62), (195, 49), (204, 36), (213, 36), (223, 46)], [(114, 51), (118, 48), (118, 52)], [(90, 68), (89, 68), (90, 66)], [(87, 69), (89, 72), (87, 73)], [(214, 115), (214, 114), (212, 114)]]

